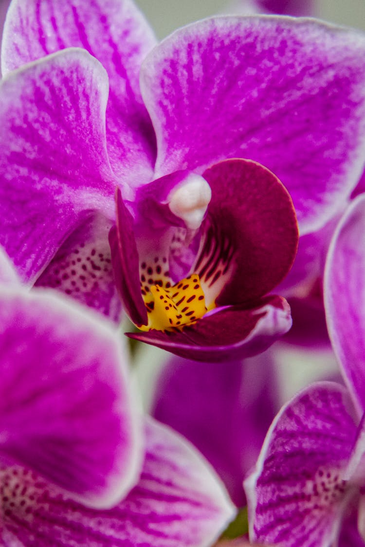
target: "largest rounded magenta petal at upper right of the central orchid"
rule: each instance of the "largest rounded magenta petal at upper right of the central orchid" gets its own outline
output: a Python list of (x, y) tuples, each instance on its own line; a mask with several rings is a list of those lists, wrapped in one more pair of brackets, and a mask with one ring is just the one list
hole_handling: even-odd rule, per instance
[(157, 174), (252, 159), (286, 186), (301, 231), (320, 228), (363, 169), (364, 48), (361, 33), (279, 17), (173, 33), (141, 72)]

